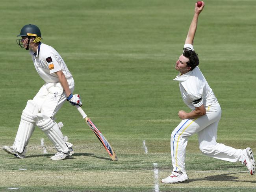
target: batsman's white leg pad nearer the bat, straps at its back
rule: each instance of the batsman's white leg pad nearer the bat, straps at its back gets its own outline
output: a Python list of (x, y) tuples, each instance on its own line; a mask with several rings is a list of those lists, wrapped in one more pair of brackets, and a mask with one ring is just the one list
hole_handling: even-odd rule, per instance
[(63, 137), (59, 125), (45, 114), (35, 114), (34, 120), (36, 125), (42, 129), (47, 137), (53, 142), (57, 151), (68, 153), (69, 148), (66, 145), (67, 137)]

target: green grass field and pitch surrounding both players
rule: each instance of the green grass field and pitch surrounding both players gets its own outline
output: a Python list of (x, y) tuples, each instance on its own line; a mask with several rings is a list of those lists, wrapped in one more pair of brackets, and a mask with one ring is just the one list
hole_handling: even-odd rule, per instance
[[(205, 0), (194, 45), (200, 69), (222, 107), (218, 142), (256, 153), (255, 0)], [(170, 136), (182, 102), (174, 63), (193, 17), (192, 0), (1, 1), (0, 148), (11, 145), (26, 101), (43, 80), (15, 39), (25, 24), (41, 29), (74, 76), (83, 109), (113, 146), (111, 161), (75, 107), (57, 114), (75, 154), (56, 150), (35, 129), (26, 159), (0, 150), (0, 191), (171, 192), (255, 191), (256, 177), (240, 163), (202, 155), (189, 138), (189, 182), (163, 185), (171, 173)], [(41, 145), (43, 139), (44, 147)], [(143, 145), (145, 141), (145, 145)], [(147, 147), (148, 153), (145, 151)], [(157, 165), (156, 165), (157, 164)]]

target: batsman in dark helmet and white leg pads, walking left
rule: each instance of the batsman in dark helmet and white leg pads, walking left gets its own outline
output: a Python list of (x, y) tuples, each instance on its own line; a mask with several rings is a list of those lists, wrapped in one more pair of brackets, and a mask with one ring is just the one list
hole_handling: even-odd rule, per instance
[(54, 121), (54, 115), (61, 109), (65, 100), (72, 105), (82, 106), (80, 96), (72, 94), (74, 79), (59, 53), (46, 44), (41, 43), (41, 31), (35, 25), (22, 27), (17, 35), (17, 44), (29, 51), (35, 70), (45, 84), (32, 100), (28, 100), (22, 111), (19, 128), (13, 146), (3, 146), (4, 151), (24, 158), (28, 141), (35, 126), (39, 127), (54, 144), (57, 153), (52, 160), (62, 160), (74, 154), (72, 144), (63, 136), (61, 127)]

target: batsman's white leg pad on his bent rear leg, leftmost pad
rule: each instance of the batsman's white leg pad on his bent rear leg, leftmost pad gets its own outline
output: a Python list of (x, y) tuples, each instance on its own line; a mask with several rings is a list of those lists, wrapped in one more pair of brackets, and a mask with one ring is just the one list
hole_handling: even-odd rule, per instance
[(17, 152), (22, 153), (22, 155), (25, 155), (28, 140), (32, 136), (35, 129), (33, 114), (38, 112), (39, 110), (37, 105), (32, 100), (28, 100), (25, 109), (22, 111), (20, 125), (13, 144), (13, 147), (17, 150)]

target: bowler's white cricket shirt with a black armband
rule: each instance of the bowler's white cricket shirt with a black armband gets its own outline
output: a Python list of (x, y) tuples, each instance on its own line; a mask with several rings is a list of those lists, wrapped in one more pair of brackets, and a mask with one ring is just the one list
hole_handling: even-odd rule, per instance
[[(194, 50), (191, 44), (185, 44), (184, 48)], [(178, 75), (173, 80), (179, 81), (182, 100), (190, 109), (194, 110), (195, 107), (201, 105), (208, 107), (218, 103), (198, 66), (186, 74)]]

